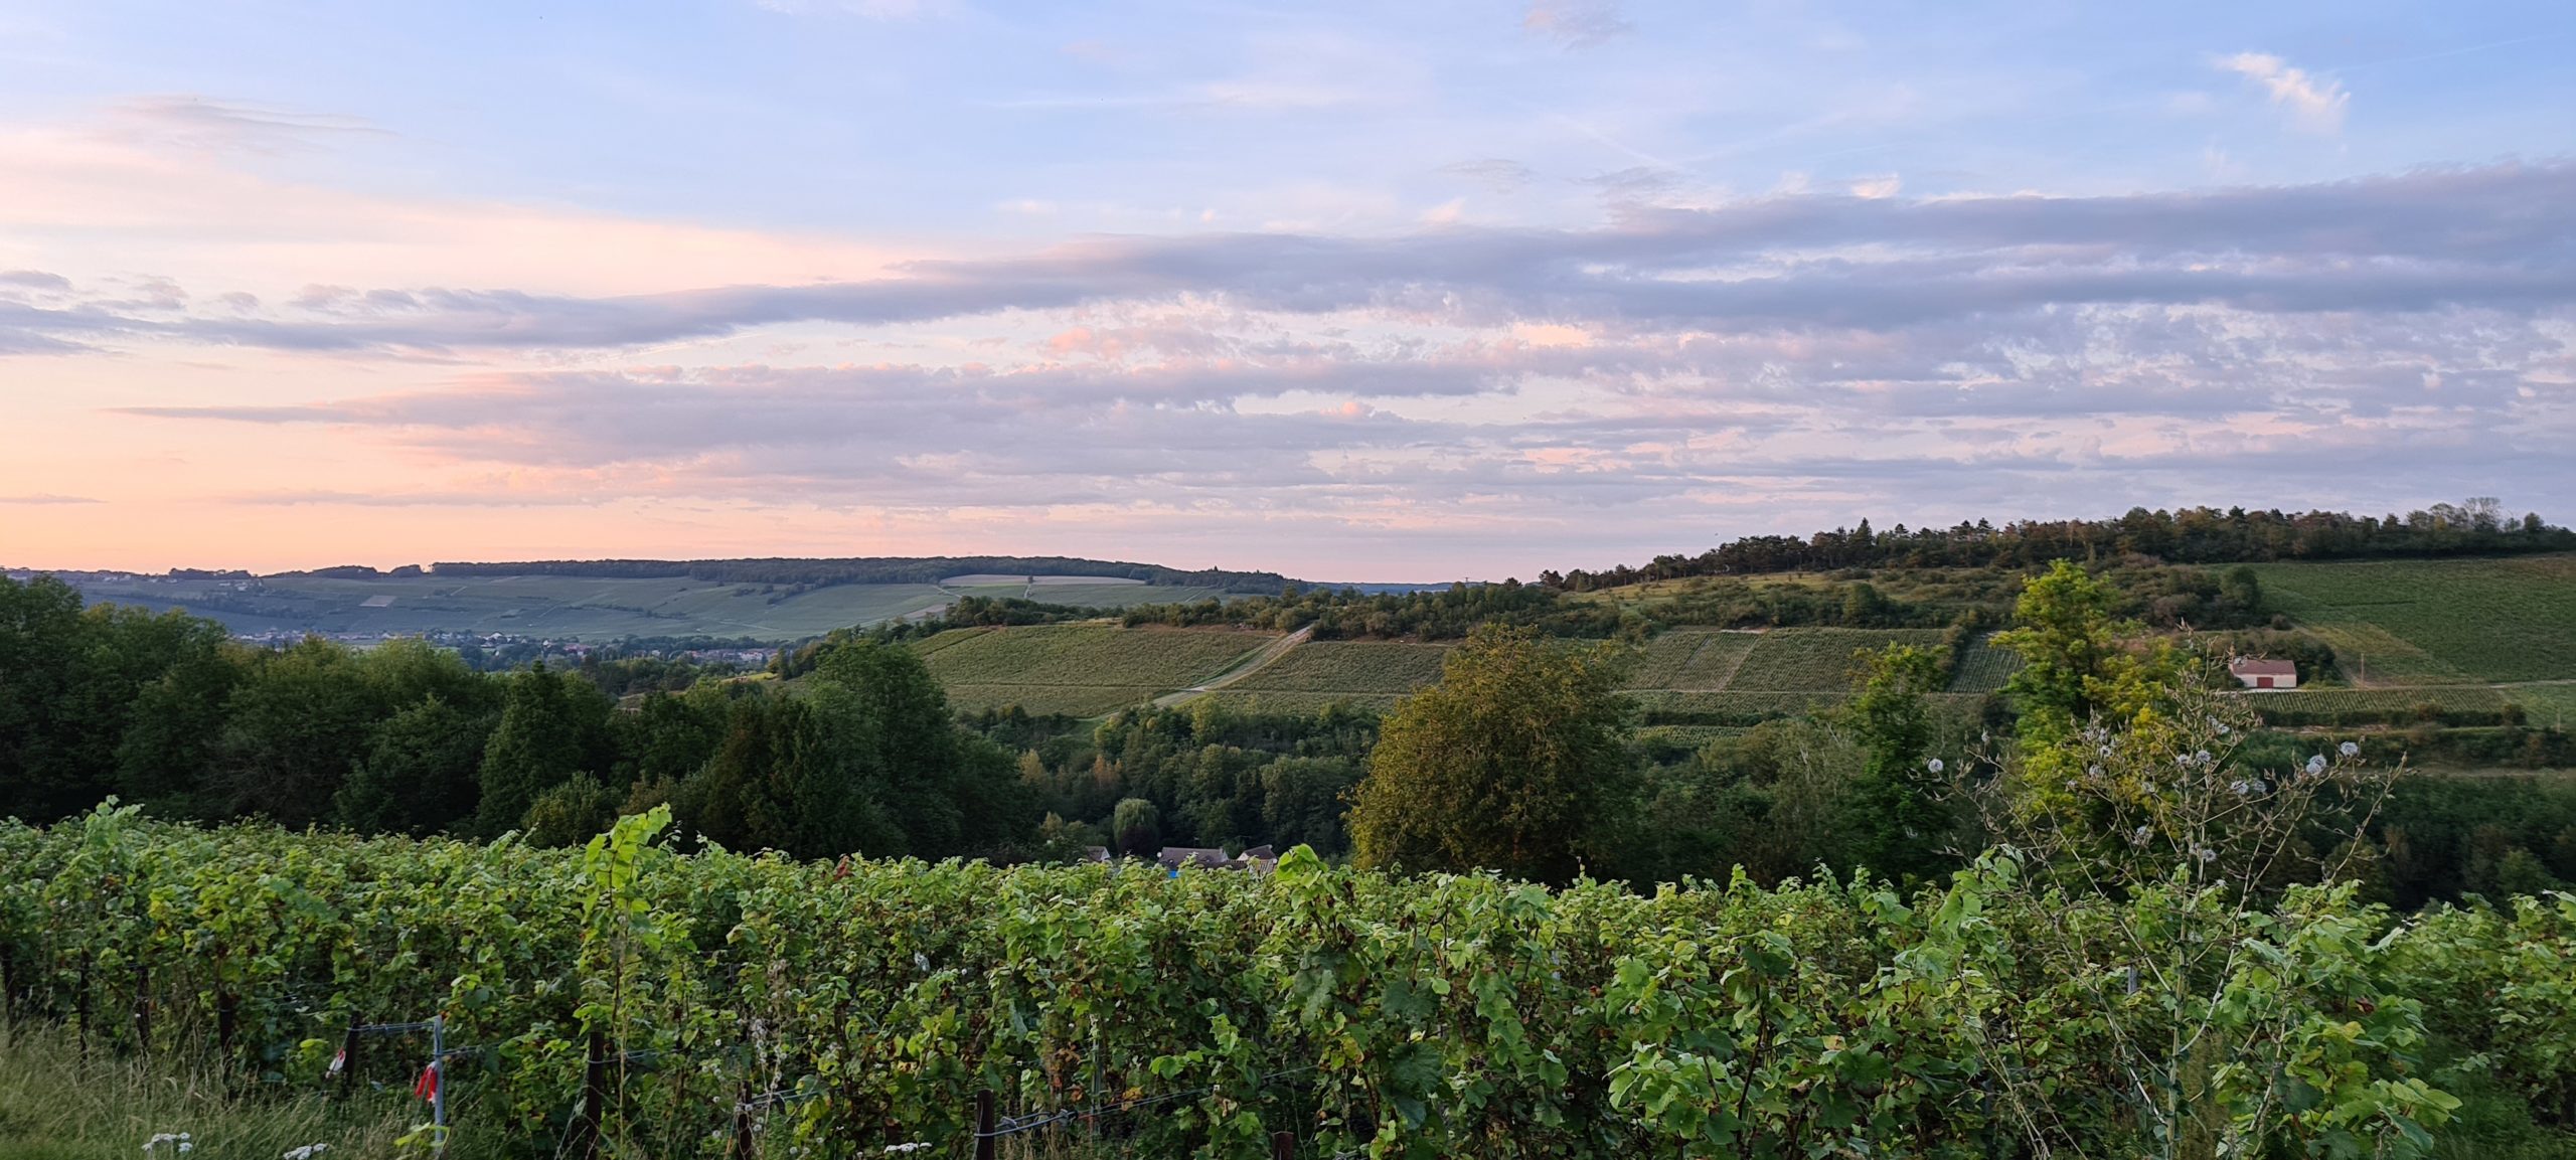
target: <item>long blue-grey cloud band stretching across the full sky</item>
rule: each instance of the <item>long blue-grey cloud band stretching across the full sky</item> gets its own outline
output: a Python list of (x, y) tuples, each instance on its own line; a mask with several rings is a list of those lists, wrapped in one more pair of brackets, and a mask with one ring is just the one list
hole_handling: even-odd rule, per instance
[[(1878, 193), (1878, 188), (1873, 188)], [(196, 309), (173, 284), (10, 304), (8, 335), (278, 351), (639, 348), (775, 325), (896, 327), (1005, 312), (1208, 302), (1404, 325), (1522, 320), (1911, 327), (2110, 304), (2246, 312), (2543, 312), (2576, 304), (2576, 165), (2128, 196), (1790, 193), (1713, 209), (1623, 204), (1597, 229), (1437, 224), (1414, 235), (1092, 237), (891, 276), (569, 296), (312, 289), (286, 309)]]

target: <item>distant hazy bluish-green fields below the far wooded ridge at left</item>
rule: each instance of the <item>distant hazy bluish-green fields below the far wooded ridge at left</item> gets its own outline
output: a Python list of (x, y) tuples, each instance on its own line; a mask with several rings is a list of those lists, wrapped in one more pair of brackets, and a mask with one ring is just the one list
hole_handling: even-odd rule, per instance
[(554, 639), (752, 637), (786, 642), (832, 629), (914, 616), (958, 595), (1023, 595), (1051, 603), (1131, 606), (1203, 601), (1213, 588), (1157, 585), (726, 585), (690, 577), (577, 575), (386, 575), (335, 580), (278, 575), (255, 588), (214, 580), (82, 583), (90, 601), (188, 608), (232, 632), (422, 634), (500, 632)]

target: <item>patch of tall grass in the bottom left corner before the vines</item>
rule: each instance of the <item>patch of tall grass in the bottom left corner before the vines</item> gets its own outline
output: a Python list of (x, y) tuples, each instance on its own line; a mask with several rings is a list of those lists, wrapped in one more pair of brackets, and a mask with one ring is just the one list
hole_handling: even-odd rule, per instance
[[(325, 1160), (394, 1152), (420, 1103), (402, 1093), (353, 1101), (245, 1093), (234, 1078), (191, 1059), (82, 1052), (62, 1029), (0, 1023), (0, 1160), (134, 1160), (175, 1157), (170, 1145), (144, 1152), (160, 1132), (188, 1132), (191, 1157), (270, 1160), (291, 1147), (330, 1145)], [(471, 1160), (459, 1134), (451, 1157)]]

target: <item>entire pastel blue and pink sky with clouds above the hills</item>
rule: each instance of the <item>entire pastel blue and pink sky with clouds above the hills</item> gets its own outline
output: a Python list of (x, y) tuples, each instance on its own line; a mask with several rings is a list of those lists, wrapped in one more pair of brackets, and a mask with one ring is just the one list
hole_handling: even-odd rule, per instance
[(2576, 5), (0, 0), (0, 565), (2576, 521)]

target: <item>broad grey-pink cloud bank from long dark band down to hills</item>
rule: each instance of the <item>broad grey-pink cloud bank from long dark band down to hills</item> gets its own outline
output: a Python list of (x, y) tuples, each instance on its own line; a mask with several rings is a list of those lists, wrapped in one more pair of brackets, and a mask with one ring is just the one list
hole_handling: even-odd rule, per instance
[[(2576, 503), (2576, 165), (1883, 193), (1097, 235), (654, 294), (21, 278), (0, 351), (325, 353), (299, 394), (100, 418), (355, 456), (330, 490), (245, 482), (263, 510), (811, 508), (1012, 549), (1226, 528), (1257, 554), (1561, 565), (1677, 523)], [(456, 363), (397, 379), (386, 351)]]

